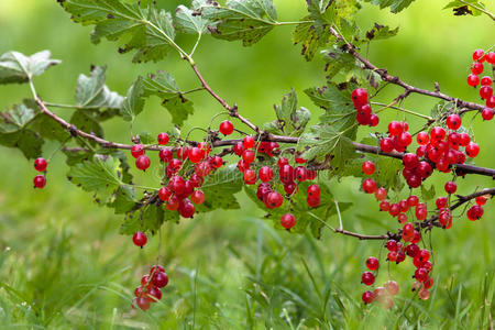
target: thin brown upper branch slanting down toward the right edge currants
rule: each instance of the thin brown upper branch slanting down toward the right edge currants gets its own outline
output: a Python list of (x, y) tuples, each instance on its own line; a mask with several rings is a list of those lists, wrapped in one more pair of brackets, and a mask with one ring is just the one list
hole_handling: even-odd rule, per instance
[(358, 53), (358, 51), (354, 47), (354, 45), (351, 44), (351, 43), (348, 43), (333, 28), (330, 28), (330, 32), (333, 34), (333, 36), (337, 37), (337, 40), (345, 42), (345, 44), (344, 44), (345, 50), (349, 52), (349, 54), (351, 54), (358, 61), (360, 61), (364, 65), (364, 68), (367, 68), (367, 69), (370, 69), (372, 72), (377, 73), (380, 75), (380, 77), (383, 80), (385, 80), (385, 81), (388, 81), (391, 84), (394, 84), (394, 85), (403, 87), (406, 91), (405, 91), (404, 95), (399, 96), (399, 98), (405, 98), (409, 94), (416, 92), (416, 94), (429, 96), (429, 97), (432, 97), (432, 98), (442, 99), (442, 100), (446, 100), (446, 101), (449, 101), (449, 102), (453, 102), (453, 103), (457, 103), (461, 108), (468, 108), (468, 109), (471, 109), (471, 110), (480, 110), (481, 111), (481, 110), (483, 110), (485, 108), (485, 107), (483, 107), (482, 105), (479, 105), (479, 103), (463, 101), (463, 100), (450, 97), (448, 95), (444, 95), (444, 94), (440, 92), (440, 89), (437, 88), (437, 87), (436, 87), (435, 91), (414, 87), (414, 86), (411, 86), (411, 85), (400, 80), (399, 77), (389, 75), (387, 73), (387, 69), (378, 68), (374, 64), (372, 64), (370, 61), (367, 61), (366, 58), (361, 56)]

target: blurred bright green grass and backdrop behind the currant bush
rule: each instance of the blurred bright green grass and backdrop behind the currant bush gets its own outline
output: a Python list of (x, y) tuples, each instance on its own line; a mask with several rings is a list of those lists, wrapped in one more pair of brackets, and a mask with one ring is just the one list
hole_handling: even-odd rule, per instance
[[(175, 10), (184, 1), (158, 1)], [(306, 14), (302, 0), (274, 0), (280, 21)], [(490, 48), (495, 40), (493, 22), (486, 16), (453, 16), (441, 10), (448, 1), (418, 0), (399, 14), (365, 6), (359, 13), (362, 30), (374, 22), (399, 26), (398, 36), (375, 42), (363, 50), (380, 67), (386, 67), (411, 85), (433, 88), (472, 101), (477, 92), (465, 84), (473, 50)], [(493, 4), (493, 3), (492, 3)], [(493, 11), (493, 6), (492, 6)], [(307, 63), (294, 46), (290, 26), (272, 31), (258, 44), (245, 48), (206, 37), (195, 56), (209, 84), (230, 103), (261, 124), (274, 118), (272, 107), (294, 87), (301, 106), (317, 118), (320, 110), (302, 90), (324, 84), (320, 59)], [(108, 86), (124, 94), (138, 75), (164, 69), (175, 75), (183, 89), (198, 82), (191, 70), (173, 54), (158, 64), (134, 65), (131, 55), (119, 55), (116, 45), (89, 42), (90, 28), (73, 23), (56, 1), (0, 1), (0, 53), (32, 54), (51, 50), (63, 64), (35, 79), (44, 100), (74, 102), (76, 78), (88, 74), (91, 64), (108, 65)], [(190, 47), (194, 41), (179, 38)], [(364, 52), (365, 51), (365, 52)], [(387, 87), (380, 100), (389, 102), (399, 89)], [(29, 96), (28, 86), (2, 86), (0, 108)], [(196, 113), (186, 128), (201, 125), (222, 109), (206, 94), (193, 96)], [(429, 113), (435, 100), (410, 96), (406, 108)], [(57, 109), (67, 118), (73, 110)], [(383, 123), (398, 114), (381, 116)], [(147, 102), (133, 132), (158, 133), (172, 128), (169, 116), (156, 99)], [(411, 119), (411, 131), (420, 122)], [(493, 167), (490, 146), (493, 122), (477, 119), (473, 129), (481, 145), (476, 163)], [(107, 138), (129, 143), (127, 123), (116, 119), (106, 124)], [(369, 132), (364, 129), (361, 134)], [(201, 136), (197, 136), (201, 138)], [(45, 145), (47, 155), (56, 145)], [(241, 211), (217, 211), (165, 224), (145, 249), (118, 234), (122, 217), (100, 208), (91, 196), (65, 177), (67, 166), (57, 154), (48, 169), (48, 185), (32, 189), (32, 163), (16, 150), (0, 147), (0, 328), (25, 329), (238, 329), (238, 328), (446, 328), (488, 327), (495, 317), (494, 271), (495, 210), (492, 202), (481, 221), (465, 217), (451, 230), (432, 233), (436, 280), (432, 297), (420, 301), (410, 292), (413, 265), (383, 267), (377, 283), (397, 280), (396, 307), (364, 308), (360, 284), (364, 261), (381, 252), (378, 242), (360, 242), (328, 231), (321, 241), (309, 235), (274, 231), (239, 194)], [(156, 162), (155, 162), (156, 163)], [(135, 174), (138, 179), (143, 174)], [(449, 175), (430, 183), (442, 189)], [(150, 178), (147, 178), (150, 180)], [(395, 220), (377, 212), (372, 197), (359, 190), (359, 179), (332, 183), (339, 200), (356, 207), (343, 213), (344, 228), (366, 233), (395, 230)], [(491, 187), (490, 178), (469, 176), (459, 193)], [(337, 223), (337, 219), (332, 219)], [(161, 241), (161, 243), (158, 243)], [(131, 310), (133, 288), (156, 262), (165, 265), (170, 284), (163, 304), (143, 314)], [(383, 251), (382, 251), (383, 253)], [(383, 254), (382, 254), (383, 255)], [(383, 263), (385, 264), (385, 263)], [(492, 323), (493, 327), (493, 323)]]

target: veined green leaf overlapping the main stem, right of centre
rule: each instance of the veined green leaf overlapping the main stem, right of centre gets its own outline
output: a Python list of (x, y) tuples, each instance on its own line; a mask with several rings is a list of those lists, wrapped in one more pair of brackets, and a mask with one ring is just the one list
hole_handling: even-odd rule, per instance
[(336, 130), (331, 125), (311, 127), (309, 132), (300, 136), (297, 150), (302, 152), (302, 158), (317, 162), (331, 155), (332, 167), (341, 167), (346, 160), (355, 157), (352, 140), (345, 136), (344, 131)]

